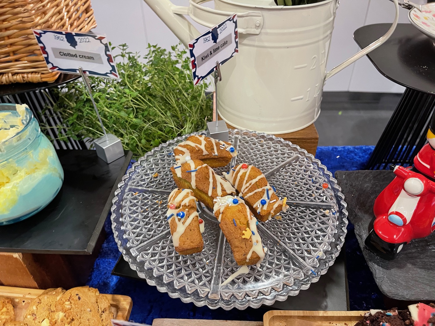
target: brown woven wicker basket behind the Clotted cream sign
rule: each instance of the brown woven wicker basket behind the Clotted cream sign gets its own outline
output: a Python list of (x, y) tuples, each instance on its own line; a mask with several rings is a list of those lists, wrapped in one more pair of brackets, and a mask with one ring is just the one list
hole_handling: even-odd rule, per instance
[(0, 84), (53, 82), (32, 29), (87, 32), (90, 0), (0, 0)]

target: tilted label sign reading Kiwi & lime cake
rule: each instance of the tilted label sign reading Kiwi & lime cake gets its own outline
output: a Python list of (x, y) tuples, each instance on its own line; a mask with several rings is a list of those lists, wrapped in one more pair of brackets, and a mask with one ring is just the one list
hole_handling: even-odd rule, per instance
[(237, 15), (227, 18), (189, 43), (193, 82), (197, 85), (239, 51)]

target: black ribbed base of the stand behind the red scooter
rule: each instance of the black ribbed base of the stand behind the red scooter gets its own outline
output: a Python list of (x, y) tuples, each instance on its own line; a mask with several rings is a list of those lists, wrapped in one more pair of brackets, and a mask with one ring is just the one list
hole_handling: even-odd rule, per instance
[(435, 95), (407, 88), (388, 121), (367, 170), (386, 170), (389, 164), (409, 166), (426, 142)]

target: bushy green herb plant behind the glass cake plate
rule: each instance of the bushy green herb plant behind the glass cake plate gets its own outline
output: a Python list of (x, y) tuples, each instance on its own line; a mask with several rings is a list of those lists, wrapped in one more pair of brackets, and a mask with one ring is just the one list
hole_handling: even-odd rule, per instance
[[(180, 44), (172, 51), (148, 45), (143, 60), (126, 44), (117, 48), (120, 79), (89, 77), (107, 133), (120, 138), (135, 156), (143, 156), (160, 143), (206, 128), (212, 115), (212, 100), (205, 95), (208, 84), (194, 86), (190, 58)], [(60, 140), (103, 136), (81, 78), (54, 90), (54, 98), (53, 111), (63, 120), (55, 127)]]

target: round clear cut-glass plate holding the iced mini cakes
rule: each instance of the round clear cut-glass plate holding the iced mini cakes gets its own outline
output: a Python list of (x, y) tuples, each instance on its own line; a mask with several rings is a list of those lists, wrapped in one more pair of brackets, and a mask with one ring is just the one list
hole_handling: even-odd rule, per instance
[[(277, 195), (288, 198), (287, 212), (258, 223), (263, 246), (268, 248), (261, 265), (249, 266), (248, 273), (221, 286), (240, 266), (216, 218), (200, 204), (204, 249), (187, 256), (175, 252), (166, 220), (168, 195), (176, 187), (170, 167), (175, 164), (174, 146), (188, 136), (146, 153), (127, 171), (115, 192), (111, 209), (114, 237), (137, 275), (172, 298), (226, 310), (271, 305), (317, 282), (345, 241), (348, 213), (344, 196), (314, 156), (264, 133), (236, 129), (229, 135), (238, 151), (231, 165), (257, 166)], [(215, 171), (221, 174), (228, 169)]]

